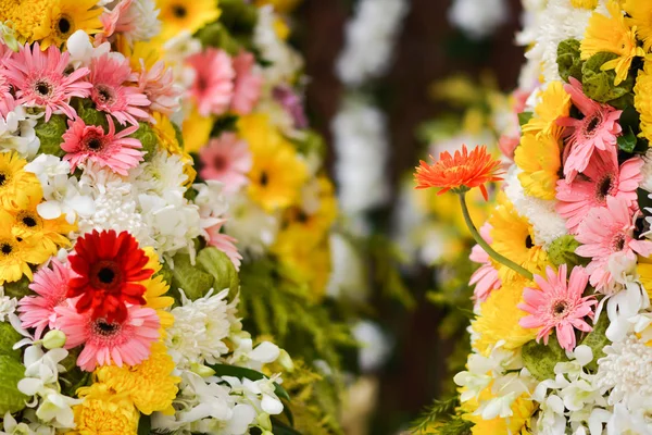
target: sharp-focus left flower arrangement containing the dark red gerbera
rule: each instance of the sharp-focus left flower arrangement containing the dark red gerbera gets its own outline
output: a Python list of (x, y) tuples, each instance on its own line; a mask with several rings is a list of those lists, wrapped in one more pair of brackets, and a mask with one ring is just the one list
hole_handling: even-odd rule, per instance
[(238, 315), (228, 183), (196, 178), (172, 121), (158, 11), (0, 3), (1, 433), (296, 432), (292, 361)]

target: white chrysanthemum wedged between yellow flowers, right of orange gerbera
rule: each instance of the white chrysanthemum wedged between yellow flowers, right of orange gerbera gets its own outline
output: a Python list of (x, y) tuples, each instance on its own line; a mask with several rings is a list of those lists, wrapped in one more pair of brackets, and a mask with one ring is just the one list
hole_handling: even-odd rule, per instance
[(568, 234), (566, 223), (554, 210), (554, 201), (528, 197), (518, 181), (518, 169), (514, 165), (505, 177), (507, 199), (522, 216), (532, 225), (535, 243), (548, 248), (555, 239)]

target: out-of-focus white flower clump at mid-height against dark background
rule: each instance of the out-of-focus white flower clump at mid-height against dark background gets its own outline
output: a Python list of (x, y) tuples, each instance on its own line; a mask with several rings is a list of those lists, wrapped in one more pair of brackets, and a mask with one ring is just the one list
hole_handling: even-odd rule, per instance
[(347, 214), (368, 211), (389, 199), (386, 125), (380, 110), (353, 99), (344, 101), (333, 121), (338, 197)]

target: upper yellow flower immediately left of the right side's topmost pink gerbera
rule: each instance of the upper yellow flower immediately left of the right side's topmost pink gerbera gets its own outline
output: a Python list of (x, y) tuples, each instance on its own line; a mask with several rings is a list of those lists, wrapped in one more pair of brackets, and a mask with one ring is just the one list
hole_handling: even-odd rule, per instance
[(562, 127), (556, 125), (556, 120), (568, 116), (569, 112), (570, 96), (561, 82), (552, 82), (541, 92), (541, 101), (535, 108), (535, 115), (523, 126), (523, 132), (559, 136)]

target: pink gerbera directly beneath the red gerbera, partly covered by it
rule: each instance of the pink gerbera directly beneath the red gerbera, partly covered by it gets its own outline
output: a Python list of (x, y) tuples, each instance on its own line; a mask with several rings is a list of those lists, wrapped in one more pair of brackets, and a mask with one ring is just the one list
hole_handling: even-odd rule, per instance
[(57, 327), (67, 337), (66, 349), (84, 345), (77, 365), (92, 372), (98, 365), (114, 363), (136, 365), (149, 358), (152, 343), (159, 339), (161, 321), (156, 311), (140, 306), (127, 306), (124, 321), (106, 322), (92, 319), (92, 312), (78, 313), (72, 303), (54, 309)]

